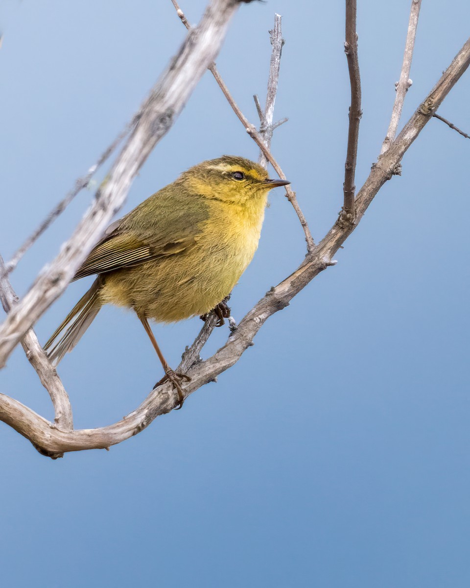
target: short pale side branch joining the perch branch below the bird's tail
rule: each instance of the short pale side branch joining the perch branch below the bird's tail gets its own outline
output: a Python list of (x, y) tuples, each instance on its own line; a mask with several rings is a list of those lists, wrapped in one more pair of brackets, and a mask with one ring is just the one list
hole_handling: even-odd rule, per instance
[[(16, 296), (11, 283), (8, 280), (5, 272), (5, 264), (0, 255), (0, 300), (5, 312), (9, 312), (12, 306), (18, 303), (18, 296)], [(46, 353), (39, 345), (36, 333), (31, 329), (21, 340), (21, 345), (25, 350), (26, 357), (29, 363), (33, 366), (41, 380), (42, 385), (49, 392), (52, 404), (55, 410), (55, 425), (64, 431), (73, 429), (72, 407), (65, 388), (62, 385), (60, 377), (57, 375), (55, 368), (49, 362)]]

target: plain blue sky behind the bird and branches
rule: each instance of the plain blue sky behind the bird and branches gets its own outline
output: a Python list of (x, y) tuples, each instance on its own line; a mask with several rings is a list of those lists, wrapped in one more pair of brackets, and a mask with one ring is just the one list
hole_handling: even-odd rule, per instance
[[(196, 22), (204, 2), (182, 3)], [(362, 116), (356, 185), (380, 152), (409, 0), (359, 2)], [(315, 239), (341, 208), (349, 82), (344, 3), (241, 6), (217, 60), (246, 115), (264, 95), (274, 12), (286, 38), (273, 152)], [(424, 0), (405, 121), (469, 34), (470, 5)], [(0, 252), (12, 255), (130, 119), (184, 38), (170, 0), (0, 8)], [(470, 132), (469, 74), (439, 113)], [(0, 426), (1, 566), (10, 586), (466, 587), (470, 582), (468, 168), (470, 142), (434, 120), (360, 227), (255, 345), (183, 410), (109, 452), (55, 462)], [(256, 159), (210, 74), (133, 183), (123, 212), (203, 159)], [(105, 173), (105, 171), (103, 171)], [(98, 176), (97, 180), (99, 181)], [(76, 198), (12, 275), (18, 293), (58, 251)], [(241, 318), (304, 255), (278, 189), (234, 290)], [(42, 342), (87, 288), (73, 283)], [(176, 365), (199, 319), (155, 326)], [(217, 329), (208, 355), (227, 337)], [(59, 373), (76, 427), (130, 412), (160, 377), (132, 313), (100, 312)], [(21, 349), (0, 391), (52, 418)], [(64, 580), (66, 579), (66, 580)]]

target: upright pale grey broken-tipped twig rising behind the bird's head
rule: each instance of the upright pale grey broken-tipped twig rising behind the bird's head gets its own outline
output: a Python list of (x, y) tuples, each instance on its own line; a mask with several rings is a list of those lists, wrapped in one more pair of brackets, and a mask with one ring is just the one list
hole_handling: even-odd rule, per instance
[[(281, 67), (281, 55), (283, 52), (284, 39), (282, 34), (282, 16), (274, 14), (274, 28), (269, 31), (271, 45), (273, 51), (271, 52), (271, 63), (269, 66), (268, 89), (266, 93), (266, 106), (264, 106), (263, 116), (260, 115), (260, 108), (258, 114), (260, 116), (260, 133), (263, 136), (264, 145), (271, 149), (271, 139), (275, 126), (273, 125), (274, 117), (274, 103), (276, 102), (277, 83), (279, 80), (279, 69)], [(256, 100), (255, 100), (256, 103)], [(278, 126), (278, 125), (277, 125)], [(260, 151), (259, 163), (263, 168), (267, 169), (268, 159), (263, 151)]]

